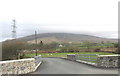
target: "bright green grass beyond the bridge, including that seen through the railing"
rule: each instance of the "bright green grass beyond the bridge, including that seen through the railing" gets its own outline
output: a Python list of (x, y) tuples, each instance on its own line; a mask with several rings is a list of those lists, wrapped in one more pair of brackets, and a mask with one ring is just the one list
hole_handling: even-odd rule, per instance
[[(76, 53), (39, 53), (38, 55), (41, 55), (43, 58), (45, 57), (67, 57), (67, 54), (98, 54), (98, 55), (117, 55), (117, 54), (113, 54), (113, 53), (105, 53), (105, 52), (76, 52)], [(35, 54), (26, 54), (26, 57), (33, 57), (35, 56)], [(80, 56), (80, 55), (79, 55)], [(81, 56), (82, 57), (82, 56)], [(92, 58), (97, 58), (97, 55), (93, 55), (93, 56), (89, 56), (89, 55), (83, 55), (83, 57), (90, 57), (89, 58), (82, 58), (79, 57), (80, 60), (82, 59), (88, 59), (88, 60), (84, 60), (87, 62), (92, 62), (92, 63), (97, 63), (97, 59), (92, 59)], [(95, 60), (95, 61), (93, 61)]]

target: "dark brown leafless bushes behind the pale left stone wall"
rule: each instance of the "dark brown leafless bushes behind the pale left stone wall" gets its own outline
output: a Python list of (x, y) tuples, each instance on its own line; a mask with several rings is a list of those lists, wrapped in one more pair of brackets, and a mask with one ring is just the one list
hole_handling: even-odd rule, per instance
[[(20, 53), (24, 48), (24, 42), (6, 41), (2, 43), (2, 60), (23, 58)], [(24, 54), (22, 54), (24, 56)]]

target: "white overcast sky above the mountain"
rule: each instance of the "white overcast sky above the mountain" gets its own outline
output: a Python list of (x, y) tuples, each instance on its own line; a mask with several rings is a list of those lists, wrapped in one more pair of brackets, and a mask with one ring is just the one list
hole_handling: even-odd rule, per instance
[(1, 40), (11, 38), (12, 20), (17, 37), (66, 32), (104, 38), (118, 37), (120, 0), (0, 0)]

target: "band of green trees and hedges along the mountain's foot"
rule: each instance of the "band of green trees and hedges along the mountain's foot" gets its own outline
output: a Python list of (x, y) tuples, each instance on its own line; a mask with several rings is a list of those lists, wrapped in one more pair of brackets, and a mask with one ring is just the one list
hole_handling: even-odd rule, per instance
[[(60, 47), (60, 45), (62, 45)], [(88, 41), (83, 42), (83, 43), (57, 43), (57, 42), (53, 42), (53, 43), (49, 43), (49, 44), (43, 44), (41, 45), (39, 44), (27, 44), (26, 45), (27, 48), (26, 49), (39, 49), (39, 50), (57, 50), (57, 51), (62, 51), (62, 52), (74, 52), (74, 51), (78, 51), (78, 50), (83, 50), (83, 49), (87, 49), (89, 51), (89, 49), (101, 49), (101, 48), (117, 48), (117, 43), (90, 43)], [(36, 46), (36, 47), (35, 47)]]

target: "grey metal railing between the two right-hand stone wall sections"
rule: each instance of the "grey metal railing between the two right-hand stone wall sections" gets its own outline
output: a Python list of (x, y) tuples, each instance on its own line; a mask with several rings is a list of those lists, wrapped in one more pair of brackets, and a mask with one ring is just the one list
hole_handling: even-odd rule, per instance
[(76, 54), (76, 60), (97, 63), (98, 54)]

